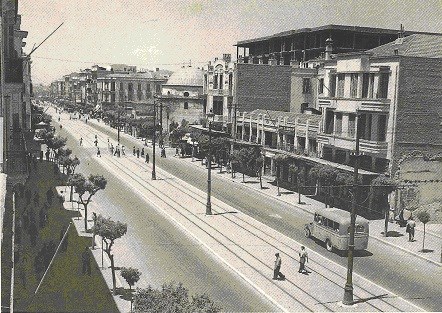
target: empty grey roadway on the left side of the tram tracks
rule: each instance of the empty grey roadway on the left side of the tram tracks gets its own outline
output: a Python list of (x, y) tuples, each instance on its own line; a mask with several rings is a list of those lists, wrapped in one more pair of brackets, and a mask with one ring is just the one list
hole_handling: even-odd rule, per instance
[(116, 266), (140, 269), (143, 274), (137, 286), (160, 287), (166, 282), (182, 282), (190, 294), (207, 293), (226, 311), (276, 310), (229, 269), (218, 263), (213, 266), (215, 260), (200, 245), (184, 236), (172, 222), (126, 188), (124, 182), (104, 172), (94, 157), (95, 148), (80, 148), (78, 141), (65, 129), (59, 132), (68, 138), (67, 146), (81, 160), (77, 172), (86, 175), (100, 173), (108, 179), (106, 189), (98, 192), (93, 201), (102, 208), (97, 213), (128, 224), (128, 233), (116, 241), (116, 255), (123, 255), (116, 257)]

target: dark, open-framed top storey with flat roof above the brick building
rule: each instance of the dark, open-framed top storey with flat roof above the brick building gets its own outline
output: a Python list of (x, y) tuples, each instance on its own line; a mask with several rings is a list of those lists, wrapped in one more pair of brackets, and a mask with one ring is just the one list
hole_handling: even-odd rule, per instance
[[(334, 42), (333, 53), (358, 52), (394, 41), (398, 30), (373, 27), (325, 25), (301, 28), (270, 36), (242, 40), (237, 46), (240, 63), (290, 65), (320, 57), (325, 52), (325, 41)], [(403, 31), (403, 36), (431, 34)]]

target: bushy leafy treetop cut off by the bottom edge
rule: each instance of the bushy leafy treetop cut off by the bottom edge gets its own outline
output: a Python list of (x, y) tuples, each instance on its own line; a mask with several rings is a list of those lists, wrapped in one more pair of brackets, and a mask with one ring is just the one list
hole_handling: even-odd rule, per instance
[(134, 312), (216, 313), (220, 310), (205, 294), (192, 296), (190, 300), (188, 290), (181, 283), (164, 284), (161, 290), (151, 286), (138, 289), (134, 298)]

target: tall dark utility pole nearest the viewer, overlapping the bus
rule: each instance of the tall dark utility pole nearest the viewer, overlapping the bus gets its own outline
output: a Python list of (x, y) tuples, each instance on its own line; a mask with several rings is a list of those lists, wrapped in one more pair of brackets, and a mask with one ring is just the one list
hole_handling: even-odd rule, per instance
[(353, 305), (353, 254), (355, 249), (355, 224), (356, 209), (358, 199), (358, 170), (359, 170), (359, 115), (356, 114), (356, 149), (354, 153), (354, 171), (353, 171), (353, 197), (351, 200), (350, 212), (350, 238), (348, 242), (348, 264), (347, 264), (347, 282), (344, 287), (344, 305)]

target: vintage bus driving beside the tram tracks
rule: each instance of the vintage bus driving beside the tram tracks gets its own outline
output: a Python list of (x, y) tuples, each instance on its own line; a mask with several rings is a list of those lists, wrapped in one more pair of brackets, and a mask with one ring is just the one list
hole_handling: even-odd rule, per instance
[[(356, 217), (355, 250), (365, 250), (368, 246), (368, 220)], [(347, 250), (350, 238), (350, 213), (336, 208), (317, 209), (313, 222), (306, 224), (307, 238), (314, 237), (325, 242), (328, 251)]]

